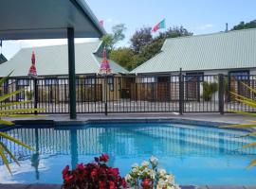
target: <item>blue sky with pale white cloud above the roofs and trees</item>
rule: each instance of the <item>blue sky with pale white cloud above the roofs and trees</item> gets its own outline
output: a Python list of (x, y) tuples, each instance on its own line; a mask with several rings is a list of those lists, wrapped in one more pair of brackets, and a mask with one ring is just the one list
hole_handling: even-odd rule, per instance
[[(112, 26), (124, 24), (125, 40), (118, 46), (129, 46), (129, 39), (142, 26), (155, 26), (165, 19), (166, 27), (184, 26), (194, 35), (225, 30), (241, 21), (256, 19), (256, 0), (85, 0), (107, 32)], [(157, 35), (155, 33), (154, 35)], [(76, 43), (97, 39), (77, 39)], [(63, 44), (66, 40), (6, 41), (2, 52), (10, 59), (20, 48)]]

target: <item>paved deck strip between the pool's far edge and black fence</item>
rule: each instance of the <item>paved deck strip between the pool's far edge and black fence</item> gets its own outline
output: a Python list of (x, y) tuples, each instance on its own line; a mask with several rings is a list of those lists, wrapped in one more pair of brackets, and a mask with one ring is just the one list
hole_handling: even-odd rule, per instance
[(187, 113), (187, 114), (177, 114), (177, 113), (156, 113), (156, 112), (145, 112), (145, 113), (111, 113), (108, 115), (104, 114), (78, 114), (77, 119), (72, 120), (69, 118), (68, 114), (47, 114), (45, 117), (35, 118), (35, 117), (19, 117), (19, 118), (9, 118), (11, 121), (15, 120), (50, 120), (56, 122), (84, 122), (88, 120), (113, 120), (113, 119), (185, 119), (185, 120), (196, 120), (196, 121), (209, 121), (209, 122), (219, 122), (219, 123), (229, 123), (229, 124), (245, 124), (249, 123), (250, 120), (256, 121), (256, 117), (249, 117), (236, 113), (227, 113), (221, 115), (220, 113)]

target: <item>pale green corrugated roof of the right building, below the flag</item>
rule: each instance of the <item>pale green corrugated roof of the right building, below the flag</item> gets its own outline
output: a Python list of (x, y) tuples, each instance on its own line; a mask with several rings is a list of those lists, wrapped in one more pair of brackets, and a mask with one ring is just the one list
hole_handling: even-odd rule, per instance
[(161, 52), (131, 73), (256, 67), (256, 29), (168, 39)]

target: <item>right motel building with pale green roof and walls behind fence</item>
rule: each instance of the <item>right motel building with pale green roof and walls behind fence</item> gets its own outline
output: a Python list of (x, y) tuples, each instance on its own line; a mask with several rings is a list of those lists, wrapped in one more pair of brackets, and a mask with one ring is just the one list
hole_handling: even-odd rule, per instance
[[(167, 39), (159, 54), (130, 72), (137, 76), (133, 96), (140, 100), (177, 100), (180, 69), (184, 100), (202, 100), (204, 86), (206, 89), (209, 83), (218, 83), (220, 74), (226, 91), (247, 95), (240, 81), (256, 87), (255, 52), (256, 29)], [(217, 89), (205, 100), (216, 99), (216, 95)]]

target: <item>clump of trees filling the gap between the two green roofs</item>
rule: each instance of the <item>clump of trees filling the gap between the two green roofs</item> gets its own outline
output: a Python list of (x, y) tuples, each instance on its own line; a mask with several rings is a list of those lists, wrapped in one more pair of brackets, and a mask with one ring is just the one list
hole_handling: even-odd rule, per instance
[[(165, 32), (160, 32), (158, 36), (153, 38), (151, 28), (142, 27), (138, 29), (131, 38), (132, 44), (129, 48), (125, 47), (113, 50), (110, 58), (115, 60), (127, 70), (131, 71), (158, 54), (167, 38), (190, 35), (192, 35), (192, 33), (183, 26), (174, 26), (170, 27)], [(124, 57), (122, 58), (122, 56)]]

